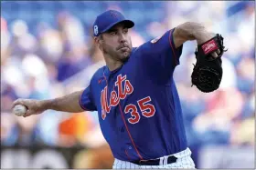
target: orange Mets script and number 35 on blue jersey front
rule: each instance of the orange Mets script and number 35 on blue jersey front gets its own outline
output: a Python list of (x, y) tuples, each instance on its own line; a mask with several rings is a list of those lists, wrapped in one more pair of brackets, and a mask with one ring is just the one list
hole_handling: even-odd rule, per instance
[[(103, 120), (106, 118), (107, 114), (110, 113), (112, 106), (119, 105), (120, 100), (123, 100), (127, 95), (133, 93), (133, 85), (126, 79), (126, 75), (118, 75), (114, 86), (117, 86), (117, 92), (112, 90), (110, 97), (107, 96), (107, 86), (101, 91), (101, 118)], [(109, 102), (107, 102), (108, 98)], [(138, 100), (137, 105), (126, 105), (124, 107), (124, 114), (131, 115), (131, 117), (128, 118), (128, 122), (130, 124), (137, 124), (141, 119), (141, 115), (144, 117), (154, 116), (155, 106), (150, 103), (151, 97), (146, 96)]]

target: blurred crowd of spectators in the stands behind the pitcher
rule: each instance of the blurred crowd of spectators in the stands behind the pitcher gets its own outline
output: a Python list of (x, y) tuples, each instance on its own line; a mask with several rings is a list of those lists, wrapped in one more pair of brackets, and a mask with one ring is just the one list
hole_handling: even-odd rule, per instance
[[(187, 21), (202, 23), (224, 37), (229, 49), (223, 55), (224, 75), (219, 89), (210, 94), (191, 87), (196, 42), (183, 47), (175, 80), (187, 140), (197, 167), (214, 167), (200, 162), (201, 149), (209, 145), (250, 148), (248, 155), (254, 155), (254, 3), (1, 1), (1, 148), (84, 148), (71, 168), (112, 167), (97, 113), (47, 111), (23, 118), (11, 114), (11, 105), (17, 98), (49, 99), (85, 88), (105, 65), (93, 45), (91, 25), (103, 11), (116, 9), (135, 23), (130, 31), (133, 46)], [(16, 166), (22, 165), (2, 160), (1, 167)]]

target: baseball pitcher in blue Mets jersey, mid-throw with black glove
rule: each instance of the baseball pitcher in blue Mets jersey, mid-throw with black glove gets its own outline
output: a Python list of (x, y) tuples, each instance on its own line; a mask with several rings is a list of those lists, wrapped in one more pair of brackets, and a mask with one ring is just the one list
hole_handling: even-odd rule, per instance
[(82, 91), (49, 100), (18, 99), (29, 115), (53, 109), (98, 111), (101, 131), (112, 149), (113, 168), (195, 168), (187, 147), (182, 109), (173, 74), (183, 44), (197, 41), (191, 82), (204, 92), (218, 89), (223, 37), (187, 22), (133, 47), (133, 21), (109, 10), (93, 24), (94, 42), (106, 65)]

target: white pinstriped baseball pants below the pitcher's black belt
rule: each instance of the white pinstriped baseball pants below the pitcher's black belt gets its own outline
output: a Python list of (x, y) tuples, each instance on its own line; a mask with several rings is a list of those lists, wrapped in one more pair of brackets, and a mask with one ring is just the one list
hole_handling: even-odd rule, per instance
[(135, 165), (133, 163), (122, 161), (119, 159), (114, 159), (114, 163), (112, 165), (113, 169), (173, 169), (173, 168), (189, 168), (195, 169), (194, 161), (191, 158), (191, 151), (187, 148), (184, 151), (174, 154), (177, 158), (176, 163), (166, 164), (166, 157), (163, 156), (160, 159), (163, 160), (162, 165)]

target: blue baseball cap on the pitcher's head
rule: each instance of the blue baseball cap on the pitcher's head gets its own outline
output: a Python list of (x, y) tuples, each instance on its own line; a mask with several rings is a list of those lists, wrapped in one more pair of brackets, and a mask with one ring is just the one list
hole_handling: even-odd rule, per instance
[(113, 25), (124, 23), (127, 28), (133, 27), (134, 23), (126, 19), (119, 11), (108, 10), (101, 15), (98, 15), (93, 24), (93, 35), (99, 36), (112, 28)]

